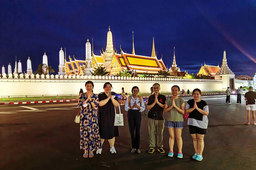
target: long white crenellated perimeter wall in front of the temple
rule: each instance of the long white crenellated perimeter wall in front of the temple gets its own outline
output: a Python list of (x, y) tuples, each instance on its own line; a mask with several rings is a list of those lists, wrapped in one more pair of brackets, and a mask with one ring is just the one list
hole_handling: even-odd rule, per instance
[[(116, 78), (116, 77), (115, 77)], [(108, 78), (90, 78), (79, 79), (73, 77), (66, 80), (61, 79), (24, 79), (24, 78), (0, 78), (0, 96), (21, 96), (21, 95), (57, 95), (57, 94), (78, 94), (80, 88), (85, 91), (85, 82), (88, 80), (94, 83), (94, 93), (103, 92), (105, 82), (110, 82), (113, 90), (116, 93), (121, 93), (121, 88), (124, 87), (125, 92), (131, 92), (133, 86), (138, 86), (140, 92), (150, 92), (150, 87), (154, 83), (160, 84), (160, 92), (171, 91), (173, 85), (178, 85), (180, 89), (192, 92), (193, 89), (200, 90), (222, 90), (221, 80), (182, 80), (182, 79), (153, 79), (153, 80), (121, 80), (120, 77)], [(110, 80), (109, 80), (110, 79)], [(120, 79), (120, 80), (118, 80)], [(123, 78), (122, 78), (123, 79)], [(129, 79), (129, 78), (128, 78)]]

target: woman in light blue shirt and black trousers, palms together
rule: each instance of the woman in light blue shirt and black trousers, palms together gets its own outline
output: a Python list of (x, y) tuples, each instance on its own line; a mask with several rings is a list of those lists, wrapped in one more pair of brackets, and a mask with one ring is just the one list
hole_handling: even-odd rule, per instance
[(128, 126), (132, 140), (132, 153), (135, 151), (140, 153), (140, 127), (141, 127), (141, 112), (145, 110), (145, 104), (142, 97), (138, 95), (139, 88), (132, 88), (132, 96), (126, 99), (125, 110), (128, 111)]

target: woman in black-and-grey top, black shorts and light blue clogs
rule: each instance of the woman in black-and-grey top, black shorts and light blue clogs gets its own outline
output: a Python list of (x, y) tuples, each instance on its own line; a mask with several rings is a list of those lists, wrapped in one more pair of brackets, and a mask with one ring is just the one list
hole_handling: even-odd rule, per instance
[(201, 90), (194, 89), (193, 98), (185, 104), (185, 113), (189, 113), (188, 127), (193, 138), (195, 155), (192, 157), (198, 161), (203, 159), (204, 135), (207, 133), (209, 107), (207, 103), (200, 99)]

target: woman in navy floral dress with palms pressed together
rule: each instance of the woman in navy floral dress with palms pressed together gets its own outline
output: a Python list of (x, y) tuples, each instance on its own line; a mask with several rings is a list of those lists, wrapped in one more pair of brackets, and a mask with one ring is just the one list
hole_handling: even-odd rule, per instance
[(101, 140), (98, 128), (98, 118), (96, 110), (98, 109), (98, 95), (93, 93), (93, 82), (85, 83), (86, 93), (79, 95), (78, 107), (80, 114), (80, 149), (84, 149), (84, 158), (93, 157), (93, 151), (101, 149)]

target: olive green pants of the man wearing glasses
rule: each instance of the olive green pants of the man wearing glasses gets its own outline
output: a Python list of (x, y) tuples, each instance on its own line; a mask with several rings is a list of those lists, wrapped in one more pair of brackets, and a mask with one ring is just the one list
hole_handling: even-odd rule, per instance
[(164, 120), (150, 119), (148, 121), (149, 147), (155, 147), (155, 133), (157, 133), (157, 146), (163, 147)]

